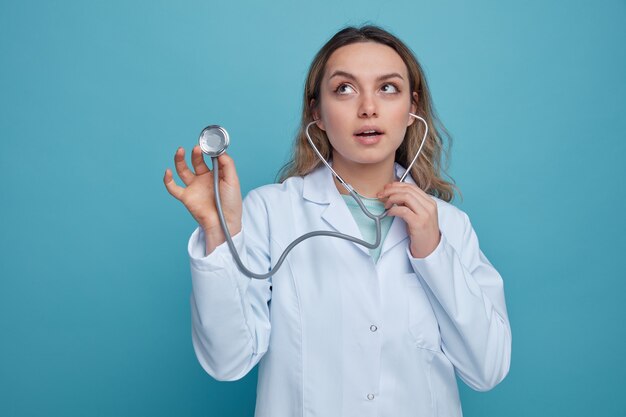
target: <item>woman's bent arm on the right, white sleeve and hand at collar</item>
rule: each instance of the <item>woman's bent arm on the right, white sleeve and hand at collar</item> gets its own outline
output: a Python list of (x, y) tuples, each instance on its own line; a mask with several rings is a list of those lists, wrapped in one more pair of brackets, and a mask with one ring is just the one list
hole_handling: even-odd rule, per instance
[(440, 224), (438, 204), (415, 184), (387, 184), (379, 198), (407, 224), (407, 254), (437, 317), (444, 354), (470, 387), (493, 388), (509, 371), (511, 328), (502, 278), (467, 215), (450, 206)]

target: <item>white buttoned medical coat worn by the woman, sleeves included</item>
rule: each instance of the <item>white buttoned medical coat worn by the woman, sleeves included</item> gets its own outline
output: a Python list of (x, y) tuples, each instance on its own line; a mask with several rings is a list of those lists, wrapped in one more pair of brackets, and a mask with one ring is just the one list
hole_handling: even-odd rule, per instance
[[(396, 166), (398, 176), (404, 170)], [(215, 379), (257, 363), (257, 417), (461, 416), (455, 372), (488, 390), (507, 374), (511, 331), (498, 272), (465, 213), (436, 199), (441, 241), (413, 258), (396, 217), (374, 264), (355, 243), (314, 237), (269, 280), (237, 269), (228, 246), (188, 245), (192, 340)], [(253, 271), (312, 230), (361, 236), (331, 173), (251, 191), (234, 242)]]

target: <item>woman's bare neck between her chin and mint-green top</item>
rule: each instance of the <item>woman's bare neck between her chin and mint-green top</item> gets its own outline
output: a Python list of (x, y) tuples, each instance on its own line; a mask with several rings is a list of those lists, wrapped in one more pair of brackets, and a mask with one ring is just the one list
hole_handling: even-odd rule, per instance
[[(350, 184), (360, 195), (376, 198), (386, 184), (395, 181), (394, 161), (382, 161), (376, 164), (359, 164), (350, 161), (334, 160), (333, 169)], [(349, 194), (341, 183), (334, 178), (340, 194)]]

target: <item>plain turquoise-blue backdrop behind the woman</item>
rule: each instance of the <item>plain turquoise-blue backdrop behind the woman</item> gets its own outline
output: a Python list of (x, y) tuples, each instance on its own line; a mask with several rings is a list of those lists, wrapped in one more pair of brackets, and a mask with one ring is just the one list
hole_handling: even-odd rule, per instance
[(623, 0), (2, 0), (0, 415), (252, 415), (256, 371), (195, 359), (162, 176), (219, 123), (244, 192), (272, 182), (313, 55), (366, 21), (422, 62), (505, 279), (512, 368), (465, 415), (626, 415)]

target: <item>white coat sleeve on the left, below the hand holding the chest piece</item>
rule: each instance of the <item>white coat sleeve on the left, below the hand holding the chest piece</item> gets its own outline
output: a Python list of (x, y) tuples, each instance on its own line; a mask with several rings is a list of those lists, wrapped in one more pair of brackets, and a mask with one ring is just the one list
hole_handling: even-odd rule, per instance
[[(233, 242), (248, 269), (269, 270), (267, 211), (255, 191), (244, 200), (242, 231)], [(191, 235), (188, 251), (192, 342), (198, 361), (217, 380), (240, 379), (269, 346), (271, 279), (243, 275), (226, 243), (205, 256), (205, 235), (200, 227)]]

